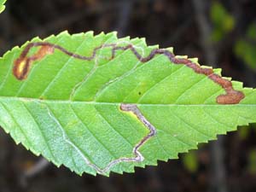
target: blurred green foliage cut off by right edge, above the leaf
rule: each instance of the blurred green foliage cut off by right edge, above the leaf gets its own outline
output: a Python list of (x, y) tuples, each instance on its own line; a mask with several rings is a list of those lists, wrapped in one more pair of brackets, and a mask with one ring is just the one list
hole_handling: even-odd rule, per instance
[(248, 26), (244, 38), (236, 42), (235, 53), (248, 67), (256, 71), (256, 25)]

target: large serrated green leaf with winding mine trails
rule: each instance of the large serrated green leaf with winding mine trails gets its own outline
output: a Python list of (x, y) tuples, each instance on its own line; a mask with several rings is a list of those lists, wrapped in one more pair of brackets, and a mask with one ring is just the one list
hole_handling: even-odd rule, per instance
[(0, 125), (78, 174), (134, 172), (255, 121), (255, 90), (143, 38), (62, 32), (0, 59)]

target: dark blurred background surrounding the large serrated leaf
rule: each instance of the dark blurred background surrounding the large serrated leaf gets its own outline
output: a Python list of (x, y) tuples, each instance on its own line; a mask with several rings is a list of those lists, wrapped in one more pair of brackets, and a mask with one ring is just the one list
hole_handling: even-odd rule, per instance
[[(118, 31), (175, 48), (256, 86), (255, 0), (9, 0), (0, 15), (0, 55), (35, 36)], [(206, 127), (207, 129), (207, 127)], [(0, 130), (0, 192), (254, 192), (256, 125), (240, 127), (180, 160), (135, 174), (77, 176), (26, 151)], [(172, 148), (172, 146), (170, 146)]]

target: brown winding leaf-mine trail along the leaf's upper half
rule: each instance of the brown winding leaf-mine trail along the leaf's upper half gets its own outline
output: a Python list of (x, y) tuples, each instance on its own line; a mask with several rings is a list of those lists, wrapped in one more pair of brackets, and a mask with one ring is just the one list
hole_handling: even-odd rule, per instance
[[(30, 49), (33, 47), (41, 47), (38, 52), (32, 56), (27, 56)], [(61, 47), (57, 44), (50, 44), (47, 42), (38, 42), (30, 43), (26, 45), (26, 48), (21, 52), (20, 57), (15, 60), (15, 65), (13, 68), (13, 73), (16, 79), (24, 80), (27, 78), (27, 75), (32, 67), (33, 61), (38, 61), (44, 58), (45, 55), (53, 54), (55, 49), (59, 49), (66, 55), (72, 56), (73, 58), (90, 61), (93, 60), (96, 56), (96, 51), (105, 47), (112, 48), (112, 58), (116, 55), (117, 50), (126, 50), (131, 49), (131, 52), (136, 55), (137, 59), (141, 62), (147, 62), (154, 58), (155, 55), (166, 55), (166, 57), (174, 64), (185, 65), (194, 70), (195, 73), (204, 74), (209, 79), (211, 79), (216, 84), (219, 84), (224, 90), (225, 94), (220, 95), (216, 98), (216, 102), (219, 104), (237, 104), (245, 97), (244, 94), (239, 90), (234, 90), (233, 85), (230, 80), (224, 79), (220, 75), (213, 73), (212, 68), (203, 68), (200, 65), (190, 61), (189, 59), (177, 58), (171, 51), (167, 49), (153, 49), (148, 56), (143, 57), (134, 48), (132, 44), (125, 46), (118, 46), (117, 44), (102, 44), (99, 47), (96, 47), (91, 56), (78, 55), (68, 51), (67, 49)]]

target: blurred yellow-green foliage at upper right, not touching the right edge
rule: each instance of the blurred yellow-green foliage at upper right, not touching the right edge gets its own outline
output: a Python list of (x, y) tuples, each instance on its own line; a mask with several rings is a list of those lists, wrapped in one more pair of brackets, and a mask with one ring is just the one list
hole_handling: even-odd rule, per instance
[(212, 3), (211, 20), (213, 24), (212, 41), (215, 42), (223, 39), (236, 25), (234, 17), (218, 1)]

